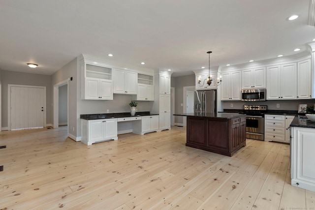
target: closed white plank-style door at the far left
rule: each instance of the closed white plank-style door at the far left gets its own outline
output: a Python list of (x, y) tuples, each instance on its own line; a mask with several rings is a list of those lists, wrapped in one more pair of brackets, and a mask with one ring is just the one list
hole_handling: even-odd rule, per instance
[(44, 127), (44, 87), (10, 86), (10, 129)]

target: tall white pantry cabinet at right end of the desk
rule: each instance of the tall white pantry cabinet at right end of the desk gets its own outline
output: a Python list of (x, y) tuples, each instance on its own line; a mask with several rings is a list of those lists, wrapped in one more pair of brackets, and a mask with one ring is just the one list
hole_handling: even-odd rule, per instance
[(171, 129), (171, 73), (159, 71), (155, 77), (155, 94), (152, 113), (159, 115), (159, 131)]

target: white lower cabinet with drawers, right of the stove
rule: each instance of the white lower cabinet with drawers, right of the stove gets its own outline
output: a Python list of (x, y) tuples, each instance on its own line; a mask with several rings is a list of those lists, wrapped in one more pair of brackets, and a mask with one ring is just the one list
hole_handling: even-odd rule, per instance
[(294, 116), (265, 115), (265, 141), (290, 143), (290, 126)]

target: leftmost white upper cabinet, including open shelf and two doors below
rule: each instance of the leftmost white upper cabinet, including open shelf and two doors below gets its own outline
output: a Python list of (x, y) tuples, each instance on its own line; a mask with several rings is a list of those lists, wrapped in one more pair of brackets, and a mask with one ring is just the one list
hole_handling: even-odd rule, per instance
[(112, 100), (112, 68), (81, 63), (84, 75), (83, 99)]

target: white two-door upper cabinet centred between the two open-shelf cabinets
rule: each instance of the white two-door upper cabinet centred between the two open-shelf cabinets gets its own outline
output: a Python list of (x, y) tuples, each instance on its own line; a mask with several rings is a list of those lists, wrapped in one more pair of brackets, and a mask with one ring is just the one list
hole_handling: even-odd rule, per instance
[(137, 73), (113, 69), (114, 93), (137, 94)]

